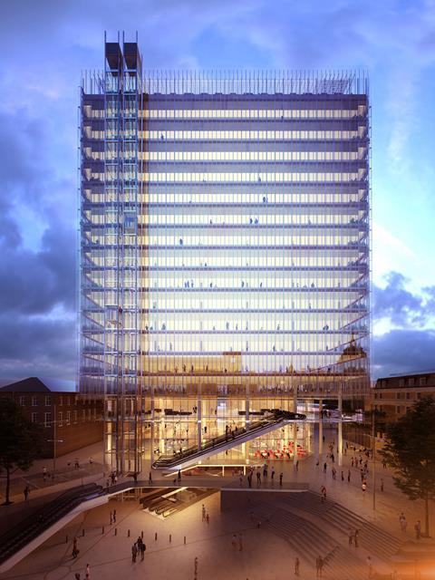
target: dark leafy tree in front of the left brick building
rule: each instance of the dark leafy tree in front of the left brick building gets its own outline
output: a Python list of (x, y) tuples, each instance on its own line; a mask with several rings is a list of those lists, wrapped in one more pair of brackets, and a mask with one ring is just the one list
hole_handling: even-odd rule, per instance
[(5, 506), (9, 498), (11, 474), (29, 469), (43, 451), (43, 429), (28, 420), (22, 408), (7, 396), (0, 397), (0, 469), (6, 475)]

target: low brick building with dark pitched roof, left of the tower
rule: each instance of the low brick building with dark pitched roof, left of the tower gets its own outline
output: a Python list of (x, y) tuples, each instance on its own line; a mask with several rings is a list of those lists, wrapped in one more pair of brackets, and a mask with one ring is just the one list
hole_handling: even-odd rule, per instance
[(43, 457), (61, 457), (102, 440), (102, 400), (73, 389), (68, 382), (37, 377), (0, 389), (0, 395), (12, 397), (23, 407), (28, 419), (43, 425)]

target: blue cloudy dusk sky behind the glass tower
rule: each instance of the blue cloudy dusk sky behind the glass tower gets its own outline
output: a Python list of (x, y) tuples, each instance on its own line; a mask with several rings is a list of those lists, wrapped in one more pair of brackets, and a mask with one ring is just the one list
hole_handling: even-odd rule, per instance
[(435, 369), (435, 0), (1, 0), (0, 378), (74, 379), (78, 87), (150, 69), (367, 69), (372, 371)]

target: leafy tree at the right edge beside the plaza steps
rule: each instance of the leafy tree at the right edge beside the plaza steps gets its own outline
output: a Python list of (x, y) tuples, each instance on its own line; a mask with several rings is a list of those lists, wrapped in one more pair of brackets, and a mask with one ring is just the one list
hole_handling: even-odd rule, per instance
[(397, 488), (425, 506), (425, 536), (429, 536), (429, 500), (435, 498), (435, 400), (416, 401), (406, 415), (386, 431), (382, 457), (395, 470)]

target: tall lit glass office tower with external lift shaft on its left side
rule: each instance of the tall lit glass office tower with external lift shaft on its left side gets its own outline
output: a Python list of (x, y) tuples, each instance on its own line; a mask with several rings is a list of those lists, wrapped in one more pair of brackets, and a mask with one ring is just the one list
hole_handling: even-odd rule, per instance
[(364, 73), (146, 73), (105, 43), (81, 90), (79, 384), (112, 469), (368, 388), (369, 117)]

